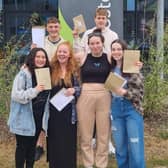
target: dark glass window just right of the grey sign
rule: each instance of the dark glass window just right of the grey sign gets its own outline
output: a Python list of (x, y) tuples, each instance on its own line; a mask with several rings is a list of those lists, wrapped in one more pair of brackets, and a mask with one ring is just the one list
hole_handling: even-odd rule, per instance
[(127, 0), (124, 10), (124, 38), (130, 46), (140, 46), (149, 36), (146, 29), (154, 26), (157, 2), (155, 0), (135, 0), (135, 10), (128, 10)]

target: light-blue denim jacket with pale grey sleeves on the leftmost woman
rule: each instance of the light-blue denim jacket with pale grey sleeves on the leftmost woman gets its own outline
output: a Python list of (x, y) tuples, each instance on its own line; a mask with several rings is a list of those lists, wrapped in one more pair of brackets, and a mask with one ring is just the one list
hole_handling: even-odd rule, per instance
[(16, 75), (11, 93), (8, 125), (10, 132), (23, 136), (34, 136), (36, 132), (32, 99), (39, 91), (32, 88), (32, 76), (28, 69)]

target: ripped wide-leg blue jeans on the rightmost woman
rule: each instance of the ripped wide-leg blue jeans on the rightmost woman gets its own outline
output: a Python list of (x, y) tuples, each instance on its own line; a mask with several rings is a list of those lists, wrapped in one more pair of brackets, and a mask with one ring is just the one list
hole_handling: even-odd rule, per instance
[(119, 168), (145, 168), (143, 117), (123, 97), (112, 98), (112, 135)]

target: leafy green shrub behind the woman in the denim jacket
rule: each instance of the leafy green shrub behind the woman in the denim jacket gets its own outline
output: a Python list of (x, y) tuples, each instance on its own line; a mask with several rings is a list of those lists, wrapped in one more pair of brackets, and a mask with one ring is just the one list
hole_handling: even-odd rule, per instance
[[(9, 113), (13, 79), (24, 62), (25, 51), (30, 48), (31, 27), (44, 25), (44, 21), (38, 13), (33, 13), (23, 24), (27, 27), (25, 33), (12, 36), (0, 50), (0, 115)], [(0, 42), (2, 38), (3, 34), (0, 34)]]

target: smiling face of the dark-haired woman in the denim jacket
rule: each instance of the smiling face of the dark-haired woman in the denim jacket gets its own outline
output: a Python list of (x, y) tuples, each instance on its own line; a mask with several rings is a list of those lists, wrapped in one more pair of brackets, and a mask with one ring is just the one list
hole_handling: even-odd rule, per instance
[(42, 68), (46, 65), (46, 55), (43, 51), (37, 51), (36, 56), (34, 58), (34, 63), (37, 68)]

